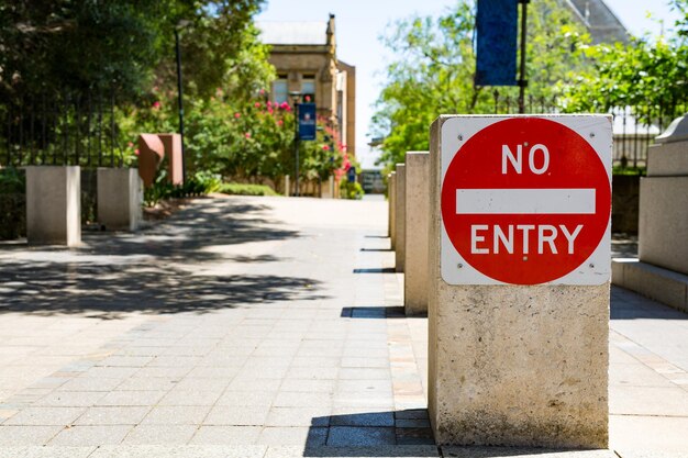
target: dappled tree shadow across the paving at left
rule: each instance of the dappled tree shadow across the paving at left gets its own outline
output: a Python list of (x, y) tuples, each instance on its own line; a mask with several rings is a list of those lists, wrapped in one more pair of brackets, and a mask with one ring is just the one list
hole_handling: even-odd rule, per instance
[(118, 319), (323, 299), (315, 280), (243, 271), (280, 260), (246, 244), (299, 236), (267, 220), (267, 209), (208, 200), (137, 234), (86, 235), (78, 249), (0, 246), (0, 313)]

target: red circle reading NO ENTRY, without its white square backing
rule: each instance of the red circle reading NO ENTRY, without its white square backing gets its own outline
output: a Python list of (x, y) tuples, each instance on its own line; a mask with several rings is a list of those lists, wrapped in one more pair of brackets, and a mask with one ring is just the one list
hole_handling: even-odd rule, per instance
[(496, 122), (471, 136), (442, 183), (442, 219), (458, 254), (504, 283), (537, 284), (578, 268), (611, 213), (600, 157), (572, 129), (541, 118)]

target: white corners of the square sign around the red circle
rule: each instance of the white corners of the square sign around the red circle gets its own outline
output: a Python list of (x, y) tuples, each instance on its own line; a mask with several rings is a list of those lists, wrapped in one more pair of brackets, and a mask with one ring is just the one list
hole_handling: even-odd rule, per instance
[[(596, 114), (474, 116), (457, 115), (444, 121), (441, 127), (442, 185), (446, 170), (456, 153), (466, 142), (485, 127), (512, 118), (540, 118), (557, 122), (578, 133), (599, 155), (611, 186), (612, 130), (611, 116)], [(442, 220), (442, 212), (440, 212)], [(507, 284), (473, 268), (456, 252), (441, 224), (442, 279), (450, 284)], [(460, 267), (459, 267), (460, 266)], [(611, 278), (611, 215), (607, 231), (590, 257), (570, 273), (544, 284), (602, 284)]]

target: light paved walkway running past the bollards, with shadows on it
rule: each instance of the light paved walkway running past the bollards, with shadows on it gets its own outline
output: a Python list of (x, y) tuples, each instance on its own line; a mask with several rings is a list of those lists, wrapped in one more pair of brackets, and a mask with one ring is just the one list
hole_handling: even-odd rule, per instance
[[(382, 201), (230, 198), (0, 245), (0, 457), (528, 456), (434, 446), (386, 223)], [(688, 456), (687, 316), (612, 309), (613, 448)]]

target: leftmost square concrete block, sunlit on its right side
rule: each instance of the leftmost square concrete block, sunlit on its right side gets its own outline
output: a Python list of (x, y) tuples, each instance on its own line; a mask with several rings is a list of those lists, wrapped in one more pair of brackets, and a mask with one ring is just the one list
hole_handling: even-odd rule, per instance
[(81, 169), (78, 166), (26, 167), (29, 245), (81, 243)]

